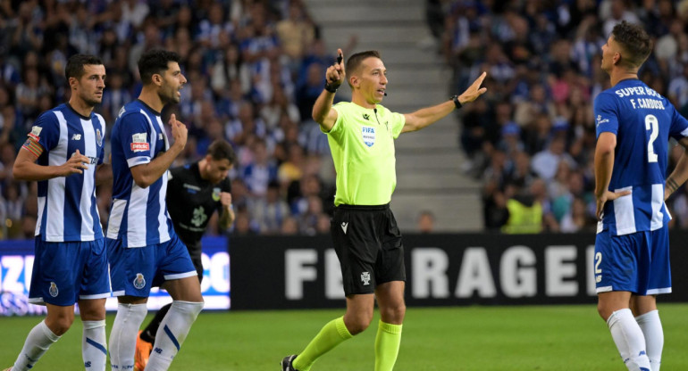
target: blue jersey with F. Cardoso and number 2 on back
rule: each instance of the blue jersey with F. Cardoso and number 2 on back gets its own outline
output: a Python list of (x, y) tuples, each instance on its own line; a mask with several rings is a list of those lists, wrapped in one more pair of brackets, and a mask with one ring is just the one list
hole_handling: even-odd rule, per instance
[(605, 204), (598, 233), (609, 228), (612, 235), (627, 235), (663, 227), (671, 218), (664, 203), (668, 139), (688, 136), (688, 120), (667, 98), (634, 78), (600, 93), (594, 111), (597, 136), (617, 136), (609, 190), (631, 191)]

